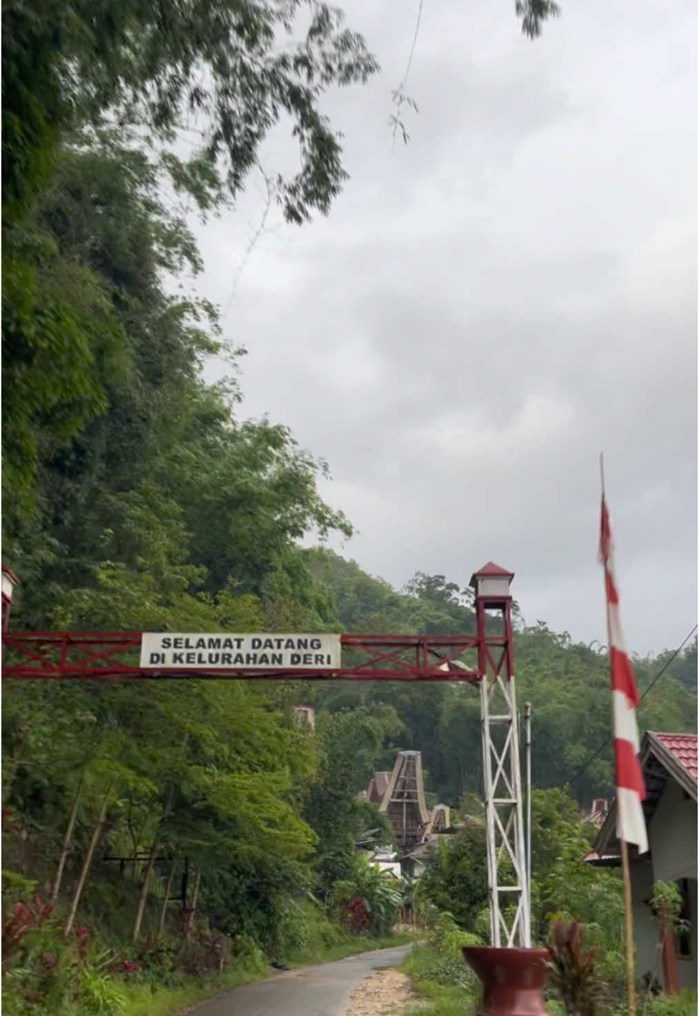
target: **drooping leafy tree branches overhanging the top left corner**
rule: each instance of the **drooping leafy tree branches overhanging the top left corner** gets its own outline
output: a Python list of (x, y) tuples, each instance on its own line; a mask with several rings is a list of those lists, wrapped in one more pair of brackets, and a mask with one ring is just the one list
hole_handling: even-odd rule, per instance
[(165, 145), (180, 126), (196, 124), (192, 158), (166, 162), (176, 186), (195, 182), (210, 192), (220, 179), (235, 197), (260, 144), (290, 118), (300, 168), (277, 177), (278, 200), (292, 221), (326, 212), (345, 174), (337, 135), (319, 110), (322, 94), (366, 81), (378, 66), (341, 12), (322, 3), (292, 42), (300, 10), (300, 0), (194, 7), (128, 0), (118, 11), (10, 0), (2, 16), (3, 202), (10, 210), (25, 205), (65, 131), (105, 117), (136, 124)]

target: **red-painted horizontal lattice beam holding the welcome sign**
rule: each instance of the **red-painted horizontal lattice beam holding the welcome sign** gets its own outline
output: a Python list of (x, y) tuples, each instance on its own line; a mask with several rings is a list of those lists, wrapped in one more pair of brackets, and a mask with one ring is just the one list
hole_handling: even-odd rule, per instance
[[(466, 682), (476, 684), (481, 672), (456, 665), (466, 650), (479, 648), (472, 635), (375, 635), (340, 636), (344, 650), (360, 658), (352, 665), (335, 670), (236, 670), (216, 669), (208, 673), (181, 668), (154, 670), (141, 668), (120, 658), (140, 649), (140, 632), (25, 632), (8, 631), (2, 636), (7, 649), (18, 662), (3, 668), (5, 679), (31, 680), (176, 680), (196, 678), (215, 680), (235, 678), (258, 681), (426, 681)], [(488, 638), (494, 646), (502, 638)]]

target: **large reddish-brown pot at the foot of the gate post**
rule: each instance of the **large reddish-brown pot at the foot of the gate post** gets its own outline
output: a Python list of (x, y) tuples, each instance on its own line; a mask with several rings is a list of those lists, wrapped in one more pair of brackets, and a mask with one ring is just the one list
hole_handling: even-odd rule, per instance
[(548, 1016), (542, 996), (548, 949), (464, 946), (462, 951), (483, 981), (478, 1016)]

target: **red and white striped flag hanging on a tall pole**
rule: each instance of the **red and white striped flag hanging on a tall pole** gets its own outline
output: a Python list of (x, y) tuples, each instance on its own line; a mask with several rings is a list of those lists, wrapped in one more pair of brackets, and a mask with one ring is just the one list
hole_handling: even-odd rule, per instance
[(599, 561), (605, 568), (607, 593), (607, 631), (612, 671), (612, 707), (614, 712), (614, 766), (617, 784), (617, 836), (627, 843), (636, 843), (639, 853), (648, 849), (648, 838), (641, 801), (645, 797), (643, 774), (638, 761), (638, 727), (636, 706), (638, 692), (631, 662), (626, 654), (619, 620), (619, 594), (614, 577), (612, 529), (605, 496), (601, 499), (599, 527)]

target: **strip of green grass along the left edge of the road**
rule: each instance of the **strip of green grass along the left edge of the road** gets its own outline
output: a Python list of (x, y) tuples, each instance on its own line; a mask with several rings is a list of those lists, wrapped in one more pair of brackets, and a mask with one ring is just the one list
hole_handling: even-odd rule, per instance
[[(294, 966), (314, 963), (330, 963), (333, 960), (356, 956), (358, 953), (373, 952), (376, 949), (390, 949), (415, 942), (416, 936), (410, 932), (401, 932), (371, 938), (368, 935), (347, 936), (346, 940), (330, 946), (307, 947), (285, 957), (287, 962)], [(270, 975), (270, 969), (255, 963), (247, 963), (232, 967), (223, 974), (209, 977), (192, 978), (191, 982), (181, 988), (153, 988), (149, 985), (130, 983), (125, 986), (123, 994), (126, 1004), (124, 1016), (175, 1016), (198, 1002), (220, 995), (223, 992), (237, 988), (239, 985), (262, 980)]]

